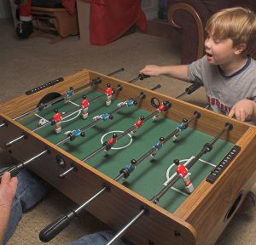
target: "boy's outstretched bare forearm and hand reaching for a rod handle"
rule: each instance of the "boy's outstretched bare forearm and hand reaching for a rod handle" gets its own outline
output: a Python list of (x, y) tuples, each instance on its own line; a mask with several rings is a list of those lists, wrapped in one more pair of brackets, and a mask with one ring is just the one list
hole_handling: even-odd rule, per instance
[(167, 77), (177, 78), (188, 82), (189, 68), (186, 65), (180, 66), (145, 66), (141, 71), (141, 74), (149, 76), (165, 75)]

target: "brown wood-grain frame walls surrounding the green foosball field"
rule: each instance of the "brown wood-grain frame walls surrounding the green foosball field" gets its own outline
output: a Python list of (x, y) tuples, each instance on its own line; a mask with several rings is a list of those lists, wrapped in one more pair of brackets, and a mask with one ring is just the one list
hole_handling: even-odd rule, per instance
[[(38, 100), (45, 94), (51, 92), (65, 94), (70, 86), (79, 88), (98, 77), (101, 77), (102, 83), (92, 87), (100, 92), (104, 92), (107, 83), (113, 87), (118, 84), (122, 85), (123, 91), (115, 95), (119, 100), (128, 100), (143, 91), (147, 95), (146, 99), (137, 106), (147, 111), (155, 110), (149, 102), (152, 97), (157, 97), (160, 101), (169, 100), (172, 108), (166, 111), (163, 117), (172, 118), (173, 121), (181, 122), (184, 117), (193, 115), (194, 111), (200, 111), (201, 119), (191, 122), (189, 127), (196, 128), (203, 133), (216, 136), (224, 128), (225, 122), (231, 122), (234, 128), (229, 134), (224, 134), (222, 139), (241, 146), (241, 151), (214, 184), (203, 181), (177, 208), (177, 211), (171, 214), (11, 119), (36, 107)], [(253, 157), (256, 149), (256, 127), (95, 71), (84, 69), (64, 77), (63, 82), (45, 88), (36, 94), (21, 95), (3, 103), (0, 109), (0, 124), (3, 122), (8, 122), (8, 127), (0, 128), (0, 146), (20, 161), (37, 155), (45, 148), (49, 149), (49, 154), (30, 163), (28, 168), (74, 202), (83, 203), (100, 191), (102, 185), (108, 185), (110, 191), (102, 194), (93, 205), (89, 205), (86, 209), (114, 230), (119, 231), (140, 211), (140, 208), (147, 208), (149, 214), (144, 215), (125, 233), (125, 236), (136, 244), (150, 244), (150, 242), (161, 245), (214, 244), (256, 179), (256, 165)], [(27, 140), (11, 147), (4, 145), (9, 140), (20, 136), (21, 133), (28, 135)], [(20, 147), (20, 145), (26, 146)], [(66, 168), (75, 165), (78, 170), (68, 174), (65, 179), (58, 178), (57, 176), (66, 168), (61, 168), (57, 164), (55, 161), (57, 155), (65, 160)], [(234, 202), (236, 206), (233, 206)]]

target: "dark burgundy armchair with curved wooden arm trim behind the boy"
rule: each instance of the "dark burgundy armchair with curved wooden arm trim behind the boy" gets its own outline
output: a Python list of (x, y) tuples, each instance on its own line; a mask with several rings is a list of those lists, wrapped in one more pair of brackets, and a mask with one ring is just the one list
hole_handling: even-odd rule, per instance
[[(209, 17), (219, 9), (237, 6), (256, 11), (255, 0), (169, 0), (168, 20), (181, 35), (182, 64), (204, 55), (205, 26)], [(253, 58), (256, 58), (256, 48)]]

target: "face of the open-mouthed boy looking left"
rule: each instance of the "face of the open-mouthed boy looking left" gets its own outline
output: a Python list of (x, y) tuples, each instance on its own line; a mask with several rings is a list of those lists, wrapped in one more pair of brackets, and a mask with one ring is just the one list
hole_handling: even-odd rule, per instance
[(230, 38), (218, 39), (208, 34), (205, 41), (207, 60), (212, 65), (224, 65), (232, 62), (236, 56), (236, 48)]

